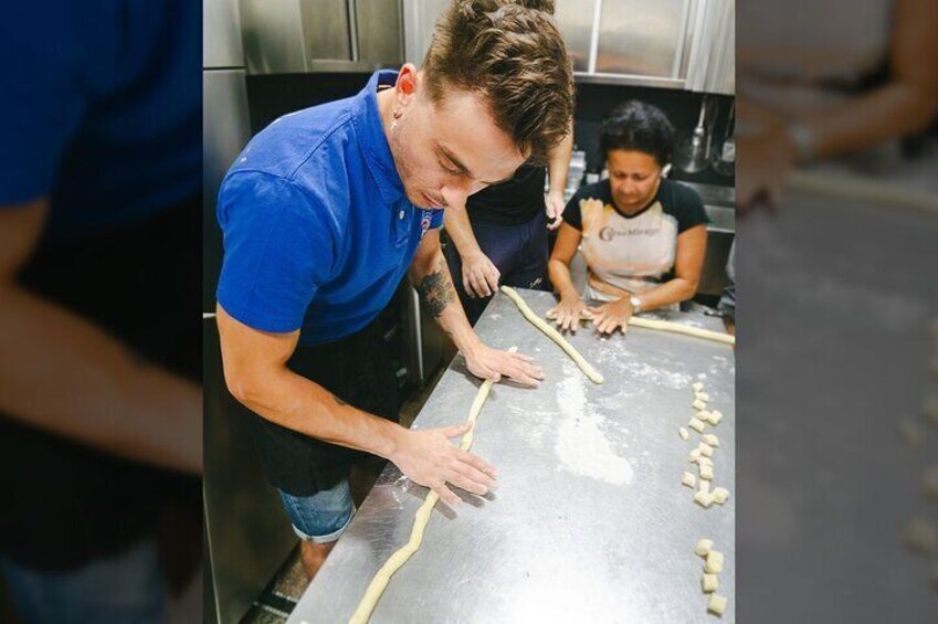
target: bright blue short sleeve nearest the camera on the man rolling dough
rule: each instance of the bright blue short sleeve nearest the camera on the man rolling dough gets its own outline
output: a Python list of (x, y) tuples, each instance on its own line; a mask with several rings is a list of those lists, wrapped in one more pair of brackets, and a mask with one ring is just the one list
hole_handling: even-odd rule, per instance
[(299, 329), (336, 264), (338, 229), (328, 210), (288, 180), (243, 171), (223, 182), (218, 216), (219, 304), (261, 331)]

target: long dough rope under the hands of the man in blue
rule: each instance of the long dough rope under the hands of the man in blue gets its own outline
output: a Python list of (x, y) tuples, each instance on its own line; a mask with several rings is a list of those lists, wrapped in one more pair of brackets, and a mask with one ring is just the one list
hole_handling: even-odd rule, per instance
[[(509, 352), (517, 350), (517, 347), (508, 349)], [(478, 413), (482, 411), (482, 405), (485, 404), (485, 400), (488, 399), (488, 392), (492, 390), (492, 380), (486, 380), (485, 383), (482, 384), (482, 388), (478, 389), (475, 400), (472, 402), (470, 415), (468, 419), (466, 419), (466, 422), (472, 426), (463, 434), (462, 441), (460, 442), (460, 448), (463, 451), (468, 451), (470, 446), (472, 446), (473, 433), (475, 432), (475, 421), (478, 417)], [(436, 505), (438, 500), (440, 500), (439, 494), (433, 490), (426, 493), (426, 498), (423, 500), (423, 505), (420, 506), (420, 509), (417, 510), (417, 515), (413, 518), (413, 529), (410, 532), (410, 541), (389, 557), (388, 561), (386, 561), (384, 564), (381, 565), (381, 569), (375, 574), (375, 578), (371, 579), (371, 583), (369, 583), (368, 590), (366, 590), (365, 595), (361, 597), (361, 602), (358, 603), (358, 607), (351, 615), (351, 620), (348, 621), (349, 624), (366, 624), (366, 622), (368, 622), (371, 617), (371, 612), (375, 611), (375, 605), (378, 604), (378, 601), (381, 599), (381, 594), (384, 593), (384, 589), (388, 586), (391, 577), (394, 572), (400, 570), (404, 563), (407, 563), (411, 554), (420, 549), (420, 544), (423, 542), (423, 531), (426, 529), (428, 522), (430, 522), (430, 515), (433, 512), (433, 507)]]

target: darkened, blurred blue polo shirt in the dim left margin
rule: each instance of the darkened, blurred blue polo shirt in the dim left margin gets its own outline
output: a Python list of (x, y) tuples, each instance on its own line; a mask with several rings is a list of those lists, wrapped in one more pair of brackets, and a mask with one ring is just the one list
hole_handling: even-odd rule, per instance
[(77, 236), (199, 192), (201, 20), (191, 0), (4, 3), (0, 209), (49, 198), (49, 232)]

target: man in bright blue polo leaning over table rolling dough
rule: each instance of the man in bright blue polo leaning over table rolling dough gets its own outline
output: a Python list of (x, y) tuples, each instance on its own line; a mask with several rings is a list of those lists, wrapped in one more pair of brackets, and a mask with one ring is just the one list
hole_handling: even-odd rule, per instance
[(405, 430), (375, 408), (380, 391), (357, 391), (381, 388), (369, 324), (404, 274), (470, 371), (542, 378), (530, 358), (478, 340), (440, 248), (442, 210), (525, 160), (544, 162), (572, 113), (552, 19), (483, 4), (447, 10), (422, 71), (379, 72), (352, 98), (274, 121), (222, 184), (225, 380), (260, 416), (259, 448), (310, 577), (351, 518), (356, 452), (390, 459), (449, 504), (459, 498), (447, 484), (478, 495), (495, 486), (492, 466), (450, 442), (466, 427)]

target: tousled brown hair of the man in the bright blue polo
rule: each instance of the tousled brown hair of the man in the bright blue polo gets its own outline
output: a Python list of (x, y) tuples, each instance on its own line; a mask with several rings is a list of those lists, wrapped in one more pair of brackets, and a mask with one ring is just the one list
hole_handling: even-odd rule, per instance
[(531, 163), (545, 165), (570, 129), (573, 74), (545, 11), (505, 0), (457, 0), (436, 22), (423, 70), (433, 103), (447, 89), (482, 94), (495, 125), (529, 152)]

